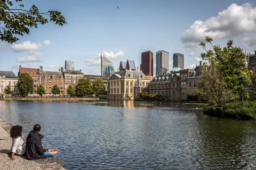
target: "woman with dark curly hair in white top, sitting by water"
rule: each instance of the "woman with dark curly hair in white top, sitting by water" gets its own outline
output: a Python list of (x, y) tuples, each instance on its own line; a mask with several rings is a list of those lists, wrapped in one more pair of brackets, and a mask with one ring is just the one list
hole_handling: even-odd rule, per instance
[(21, 156), (26, 152), (26, 144), (22, 139), (22, 126), (13, 126), (10, 131), (10, 136), (12, 138), (11, 160), (13, 160), (15, 153)]

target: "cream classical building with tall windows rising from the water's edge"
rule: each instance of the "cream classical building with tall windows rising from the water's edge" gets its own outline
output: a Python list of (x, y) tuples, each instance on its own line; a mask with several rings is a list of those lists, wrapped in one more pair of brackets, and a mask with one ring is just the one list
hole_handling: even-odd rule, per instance
[(108, 94), (107, 99), (116, 100), (134, 100), (134, 86), (137, 84), (137, 79), (140, 75), (141, 82), (145, 88), (150, 82), (150, 79), (137, 68), (137, 71), (129, 70), (115, 72), (108, 79)]

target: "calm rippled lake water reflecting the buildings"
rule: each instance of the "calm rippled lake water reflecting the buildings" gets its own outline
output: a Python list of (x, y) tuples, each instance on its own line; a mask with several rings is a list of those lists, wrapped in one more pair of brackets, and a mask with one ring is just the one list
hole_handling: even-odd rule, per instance
[[(256, 169), (256, 122), (202, 114), (204, 105), (135, 101), (0, 101), (0, 118), (73, 169)], [(123, 113), (120, 114), (118, 111)]]

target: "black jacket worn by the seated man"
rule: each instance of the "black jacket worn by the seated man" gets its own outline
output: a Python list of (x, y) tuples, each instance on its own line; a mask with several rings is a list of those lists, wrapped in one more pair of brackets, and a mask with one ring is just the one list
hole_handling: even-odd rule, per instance
[(26, 139), (26, 158), (29, 160), (44, 159), (46, 149), (43, 149), (41, 140), (43, 135), (31, 130)]

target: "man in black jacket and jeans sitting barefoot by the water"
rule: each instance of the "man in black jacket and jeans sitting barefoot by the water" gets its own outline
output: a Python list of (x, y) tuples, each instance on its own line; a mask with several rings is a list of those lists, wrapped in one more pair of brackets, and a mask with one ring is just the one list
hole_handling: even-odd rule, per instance
[(54, 155), (58, 153), (57, 148), (48, 150), (42, 147), (41, 140), (44, 136), (39, 133), (40, 131), (41, 126), (36, 124), (34, 129), (29, 132), (29, 136), (26, 139), (26, 158), (29, 160), (54, 157)]

